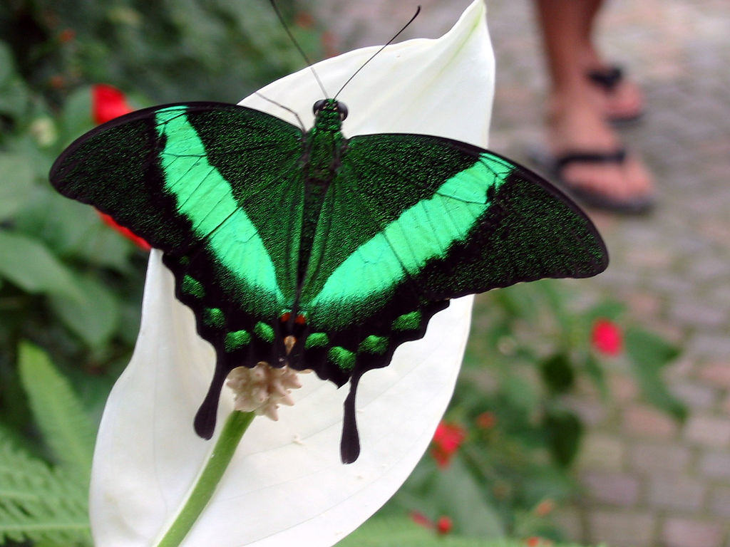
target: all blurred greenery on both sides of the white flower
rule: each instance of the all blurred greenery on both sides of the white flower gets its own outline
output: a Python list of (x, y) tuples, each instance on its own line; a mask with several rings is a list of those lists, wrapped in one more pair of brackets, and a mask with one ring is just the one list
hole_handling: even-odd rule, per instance
[[(320, 58), (311, 18), (293, 0), (279, 4)], [(47, 182), (55, 157), (93, 127), (90, 86), (115, 85), (137, 107), (237, 102), (302, 64), (264, 0), (0, 4), (0, 543), (89, 543), (92, 424), (139, 327), (145, 252)], [(558, 538), (545, 500), (575, 494), (569, 470), (584, 430), (566, 398), (587, 380), (609, 400), (589, 330), (621, 314), (612, 303), (576, 311), (562, 287), (478, 300), (447, 414), (464, 444), (445, 468), (427, 455), (385, 513), (448, 515), (453, 535), (439, 545)], [(681, 418), (660, 376), (675, 355), (656, 335), (626, 332), (624, 360), (647, 399)], [(433, 530), (414, 526), (402, 515), (375, 521), (353, 544), (428, 545)]]

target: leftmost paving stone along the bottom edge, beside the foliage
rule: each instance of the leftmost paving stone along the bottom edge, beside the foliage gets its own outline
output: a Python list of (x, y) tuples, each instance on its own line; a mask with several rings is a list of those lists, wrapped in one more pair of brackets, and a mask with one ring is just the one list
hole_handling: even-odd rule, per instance
[(656, 517), (647, 512), (595, 511), (588, 516), (586, 540), (604, 542), (612, 547), (648, 546), (652, 543), (655, 525)]

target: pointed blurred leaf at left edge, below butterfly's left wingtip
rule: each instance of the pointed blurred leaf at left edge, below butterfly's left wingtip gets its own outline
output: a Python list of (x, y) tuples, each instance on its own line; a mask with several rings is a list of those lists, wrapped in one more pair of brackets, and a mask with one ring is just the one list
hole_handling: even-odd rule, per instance
[(44, 245), (7, 230), (0, 230), (0, 276), (26, 292), (83, 298), (74, 276)]

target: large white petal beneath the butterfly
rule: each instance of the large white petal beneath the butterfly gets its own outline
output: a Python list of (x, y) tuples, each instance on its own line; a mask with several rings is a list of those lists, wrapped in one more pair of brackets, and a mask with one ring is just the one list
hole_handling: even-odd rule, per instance
[[(481, 0), (436, 40), (388, 47), (339, 97), (350, 109), (345, 134), (414, 132), (485, 146), (493, 98), (493, 55)], [(315, 65), (331, 93), (374, 48)], [(312, 122), (321, 97), (309, 69), (261, 90)], [(291, 120), (258, 96), (242, 104)], [(296, 120), (292, 120), (296, 123)], [(94, 454), (91, 520), (97, 547), (153, 546), (177, 516), (215, 442), (193, 432), (193, 415), (212, 375), (214, 354), (193, 314), (174, 299), (172, 274), (153, 251), (142, 327), (115, 384)], [(339, 461), (342, 402), (314, 374), (302, 375), (293, 407), (279, 421), (254, 419), (189, 547), (331, 546), (367, 519), (407, 478), (429, 445), (458, 374), (472, 298), (454, 300), (426, 336), (399, 347), (387, 368), (358, 390), (361, 455)], [(220, 424), (233, 408), (224, 390)]]

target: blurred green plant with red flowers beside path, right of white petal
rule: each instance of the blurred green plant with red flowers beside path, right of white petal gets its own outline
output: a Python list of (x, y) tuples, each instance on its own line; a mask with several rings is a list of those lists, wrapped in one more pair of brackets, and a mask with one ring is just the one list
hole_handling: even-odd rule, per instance
[[(596, 344), (599, 323), (620, 337), (612, 354)], [(682, 420), (685, 408), (661, 379), (677, 354), (631, 325), (620, 303), (581, 304), (571, 282), (480, 295), (445, 417), (464, 442), (446, 466), (427, 452), (383, 515), (447, 517), (464, 537), (563, 539), (552, 517), (580, 495), (572, 470), (586, 429), (572, 403), (582, 395), (611, 406), (607, 372), (621, 371), (648, 403)]]

